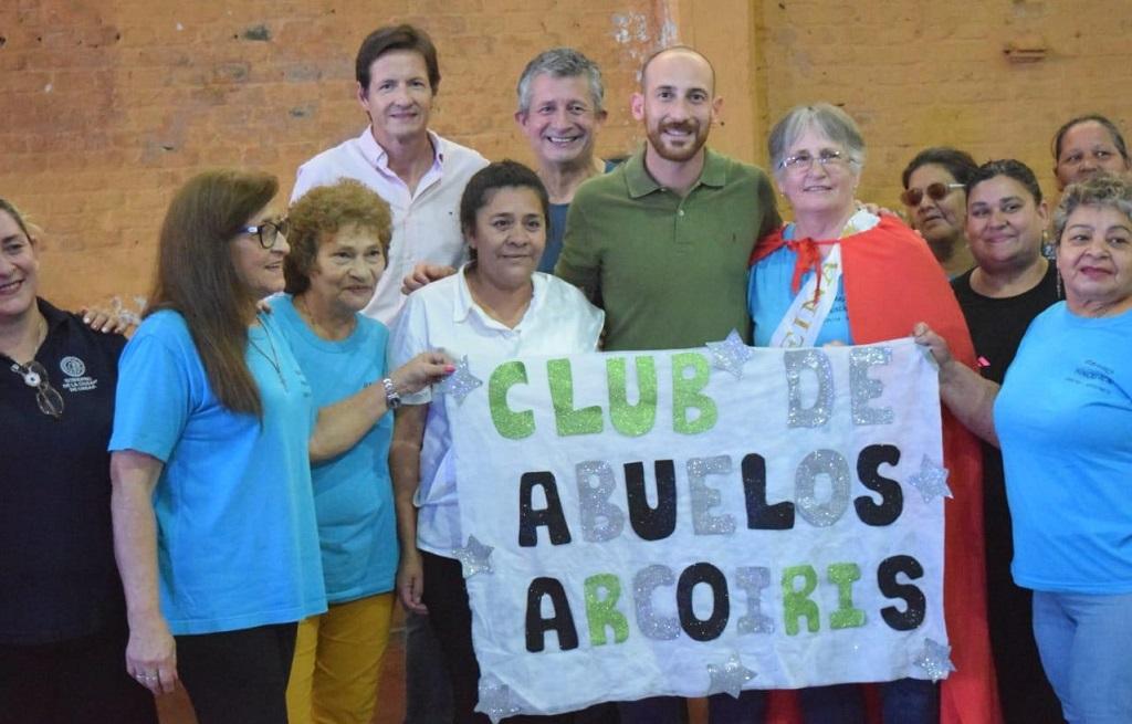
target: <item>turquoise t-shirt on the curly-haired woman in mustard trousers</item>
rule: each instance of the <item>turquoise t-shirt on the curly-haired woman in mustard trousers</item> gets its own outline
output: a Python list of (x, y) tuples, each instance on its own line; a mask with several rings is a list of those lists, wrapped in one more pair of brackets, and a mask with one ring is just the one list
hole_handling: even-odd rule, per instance
[[(290, 296), (274, 298), (272, 309), (310, 383), (316, 410), (381, 383), (389, 337), (385, 325), (357, 314), (353, 333), (333, 342), (307, 326)], [(323, 575), (331, 603), (393, 589), (397, 527), (389, 480), (392, 436), (393, 415), (387, 414), (352, 448), (311, 466)]]

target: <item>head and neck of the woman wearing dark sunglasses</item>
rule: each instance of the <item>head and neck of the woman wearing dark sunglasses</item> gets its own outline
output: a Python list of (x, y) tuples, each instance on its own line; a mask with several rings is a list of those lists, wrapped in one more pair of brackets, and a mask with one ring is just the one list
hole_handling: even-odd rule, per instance
[(978, 169), (969, 154), (946, 146), (916, 154), (900, 176), (900, 195), (911, 227), (924, 236), (949, 277), (975, 266), (963, 236), (967, 219), (967, 181)]

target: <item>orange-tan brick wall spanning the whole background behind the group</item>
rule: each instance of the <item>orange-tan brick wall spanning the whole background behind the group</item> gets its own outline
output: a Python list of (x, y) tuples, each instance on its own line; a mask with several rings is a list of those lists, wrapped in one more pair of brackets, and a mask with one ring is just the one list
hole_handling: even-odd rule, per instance
[[(530, 161), (511, 119), (514, 81), (558, 44), (601, 63), (610, 119), (600, 150), (625, 153), (640, 137), (626, 102), (636, 68), (675, 37), (694, 38), (724, 79), (755, 78), (751, 161), (791, 105), (843, 104), (869, 145), (861, 196), (889, 205), (926, 145), (1017, 156), (1052, 192), (1048, 141), (1064, 119), (1097, 110), (1132, 131), (1129, 0), (749, 0), (754, 27), (747, 15), (679, 26), (707, 2), (5, 0), (0, 196), (48, 231), (46, 296), (74, 305), (143, 294), (177, 186), (203, 167), (248, 165), (289, 191), (299, 163), (365, 126), (354, 52), (370, 29), (401, 20), (427, 28), (440, 51), (434, 127), (492, 158)], [(1046, 58), (1011, 63), (1011, 42), (1044, 44)], [(737, 68), (746, 58), (755, 67)], [(713, 138), (746, 149), (729, 147), (741, 130)]]

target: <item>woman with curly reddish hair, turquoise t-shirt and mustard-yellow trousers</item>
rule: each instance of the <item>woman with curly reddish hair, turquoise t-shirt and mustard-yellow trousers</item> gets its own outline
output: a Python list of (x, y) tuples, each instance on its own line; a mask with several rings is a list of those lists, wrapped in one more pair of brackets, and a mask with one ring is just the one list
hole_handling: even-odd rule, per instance
[(317, 449), (317, 436), (312, 441), (315, 515), (329, 609), (299, 624), (288, 714), (291, 724), (311, 722), (315, 713), (319, 721), (368, 724), (398, 560), (386, 389), (394, 399), (419, 391), (444, 357), (424, 353), (387, 373), (388, 329), (359, 313), (385, 272), (392, 222), (381, 197), (358, 181), (342, 180), (303, 195), (290, 219), (291, 253), (283, 270), (291, 295), (272, 300), (272, 316), (310, 383), (315, 407), (325, 415), (338, 406), (361, 406), (369, 414), (354, 419), (351, 437), (360, 439), (341, 454), (327, 456)]

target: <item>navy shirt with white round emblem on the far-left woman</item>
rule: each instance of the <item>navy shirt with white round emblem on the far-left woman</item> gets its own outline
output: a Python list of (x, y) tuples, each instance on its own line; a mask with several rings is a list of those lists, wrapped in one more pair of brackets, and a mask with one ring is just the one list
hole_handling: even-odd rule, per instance
[(55, 420), (0, 354), (0, 643), (44, 644), (125, 627), (110, 523), (121, 335), (38, 300), (35, 355), (63, 399)]

